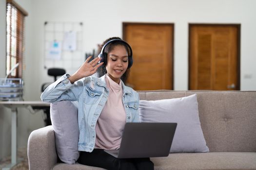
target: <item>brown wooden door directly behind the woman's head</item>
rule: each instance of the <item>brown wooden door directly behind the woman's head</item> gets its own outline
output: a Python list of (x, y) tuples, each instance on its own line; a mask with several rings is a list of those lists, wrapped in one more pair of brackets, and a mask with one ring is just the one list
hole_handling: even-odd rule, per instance
[(135, 90), (173, 89), (173, 24), (123, 23), (133, 50), (127, 85)]

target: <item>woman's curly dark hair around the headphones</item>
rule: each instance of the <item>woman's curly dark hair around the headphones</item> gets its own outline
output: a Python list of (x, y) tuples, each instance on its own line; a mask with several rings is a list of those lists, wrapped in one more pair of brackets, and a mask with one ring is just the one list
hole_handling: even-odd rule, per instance
[[(111, 37), (111, 38), (108, 38), (106, 39), (100, 46), (100, 49), (99, 49), (99, 52), (101, 51), (102, 47), (104, 46), (104, 44), (106, 44), (108, 41), (112, 40), (112, 39), (121, 39), (119, 37)], [(130, 51), (128, 50), (129, 48), (127, 47), (127, 45), (121, 41), (113, 41), (111, 43), (109, 43), (103, 52), (106, 52), (106, 53), (109, 53), (111, 52), (116, 46), (118, 45), (121, 45), (121, 46), (124, 46), (128, 55), (130, 54)], [(104, 63), (103, 65), (101, 65), (98, 70), (97, 70), (97, 73), (98, 73), (98, 77), (101, 77), (103, 75), (105, 75), (107, 73), (107, 69), (106, 69), (106, 64), (107, 63)], [(126, 82), (128, 76), (129, 76), (129, 72), (130, 72), (130, 68), (127, 68), (126, 71), (123, 73), (123, 75), (121, 76), (121, 80), (123, 81), (123, 83)]]

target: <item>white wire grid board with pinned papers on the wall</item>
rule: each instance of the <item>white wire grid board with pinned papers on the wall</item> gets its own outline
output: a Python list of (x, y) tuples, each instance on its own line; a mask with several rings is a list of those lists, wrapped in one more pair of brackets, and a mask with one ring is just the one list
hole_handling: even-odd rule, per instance
[(43, 67), (75, 73), (84, 62), (82, 22), (44, 22)]

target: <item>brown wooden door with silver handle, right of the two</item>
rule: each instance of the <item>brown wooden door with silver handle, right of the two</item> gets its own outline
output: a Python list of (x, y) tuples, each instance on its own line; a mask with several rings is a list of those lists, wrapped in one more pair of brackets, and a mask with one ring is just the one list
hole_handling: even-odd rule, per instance
[(189, 25), (189, 89), (240, 89), (240, 25)]

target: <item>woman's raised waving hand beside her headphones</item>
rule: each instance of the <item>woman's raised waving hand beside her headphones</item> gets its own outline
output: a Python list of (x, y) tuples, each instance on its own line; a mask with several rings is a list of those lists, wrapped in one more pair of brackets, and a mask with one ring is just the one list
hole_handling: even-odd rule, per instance
[(98, 62), (101, 60), (101, 58), (99, 57), (96, 57), (90, 63), (88, 63), (91, 58), (92, 56), (88, 57), (83, 65), (72, 76), (68, 78), (71, 84), (81, 78), (93, 75), (94, 73), (96, 73), (97, 69), (103, 64), (103, 62), (98, 64)]

